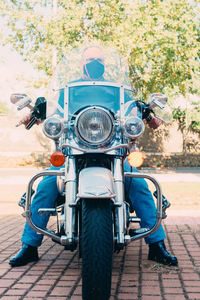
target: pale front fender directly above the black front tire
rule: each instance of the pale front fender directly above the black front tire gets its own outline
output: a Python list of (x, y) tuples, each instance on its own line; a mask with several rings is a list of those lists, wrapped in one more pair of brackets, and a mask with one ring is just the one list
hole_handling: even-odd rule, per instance
[(89, 167), (79, 174), (78, 198), (114, 198), (113, 176), (110, 170)]

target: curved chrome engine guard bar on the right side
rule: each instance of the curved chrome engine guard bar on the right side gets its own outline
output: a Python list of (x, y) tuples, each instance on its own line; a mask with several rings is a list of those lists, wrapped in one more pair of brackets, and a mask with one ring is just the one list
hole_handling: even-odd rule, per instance
[(150, 234), (154, 233), (158, 229), (158, 227), (160, 226), (161, 221), (162, 221), (162, 190), (161, 190), (161, 186), (160, 186), (159, 182), (153, 176), (150, 176), (148, 174), (125, 172), (124, 176), (125, 177), (135, 177), (135, 178), (149, 179), (155, 185), (156, 190), (157, 190), (157, 195), (158, 195), (158, 197), (157, 197), (156, 223), (147, 232), (141, 233), (141, 234), (138, 234), (136, 236), (131, 237), (131, 239), (129, 241), (129, 242), (131, 242), (131, 241), (138, 240), (140, 238), (144, 238), (144, 237), (149, 236)]

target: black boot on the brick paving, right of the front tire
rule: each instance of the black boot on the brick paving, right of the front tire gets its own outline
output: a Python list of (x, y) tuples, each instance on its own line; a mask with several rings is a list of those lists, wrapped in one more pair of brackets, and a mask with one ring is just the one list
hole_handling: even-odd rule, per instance
[(154, 260), (160, 264), (178, 266), (178, 260), (167, 250), (164, 241), (159, 241), (149, 245), (149, 260)]

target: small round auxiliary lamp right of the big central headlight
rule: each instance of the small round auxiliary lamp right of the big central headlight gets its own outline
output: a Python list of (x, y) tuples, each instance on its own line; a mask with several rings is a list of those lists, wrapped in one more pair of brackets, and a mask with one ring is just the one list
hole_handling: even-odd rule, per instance
[(125, 135), (130, 138), (140, 136), (144, 131), (144, 123), (138, 117), (130, 117), (124, 124)]

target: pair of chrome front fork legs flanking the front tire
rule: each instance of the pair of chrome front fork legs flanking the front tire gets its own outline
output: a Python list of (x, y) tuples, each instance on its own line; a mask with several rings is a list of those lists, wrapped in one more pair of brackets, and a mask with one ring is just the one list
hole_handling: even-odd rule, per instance
[[(115, 232), (117, 249), (123, 248), (126, 234), (126, 207), (124, 194), (124, 172), (121, 158), (115, 158), (113, 164), (113, 179), (115, 187)], [(75, 159), (68, 157), (65, 166), (65, 236), (62, 244), (71, 247), (75, 238), (75, 206), (77, 202), (77, 173)], [(65, 239), (65, 240), (64, 240)]]

